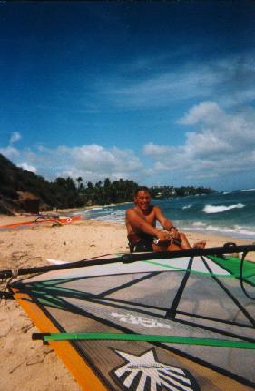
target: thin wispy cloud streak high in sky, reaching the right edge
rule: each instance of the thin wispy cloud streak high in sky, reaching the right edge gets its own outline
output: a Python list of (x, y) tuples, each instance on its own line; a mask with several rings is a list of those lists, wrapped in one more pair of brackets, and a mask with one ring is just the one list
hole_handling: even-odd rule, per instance
[(123, 67), (119, 72), (114, 69), (111, 81), (107, 75), (107, 80), (98, 82), (96, 90), (108, 103), (129, 110), (165, 108), (188, 99), (210, 99), (229, 107), (254, 102), (253, 64), (254, 53), (210, 62), (176, 63), (172, 58), (164, 58), (163, 66), (161, 55), (158, 59), (137, 58), (135, 63), (125, 64), (125, 72)]

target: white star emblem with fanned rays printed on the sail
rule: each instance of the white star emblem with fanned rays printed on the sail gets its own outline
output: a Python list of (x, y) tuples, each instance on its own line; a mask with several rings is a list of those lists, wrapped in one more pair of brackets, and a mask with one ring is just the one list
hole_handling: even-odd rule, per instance
[(125, 363), (111, 372), (123, 391), (199, 391), (190, 372), (158, 361), (154, 348), (135, 356), (114, 350)]

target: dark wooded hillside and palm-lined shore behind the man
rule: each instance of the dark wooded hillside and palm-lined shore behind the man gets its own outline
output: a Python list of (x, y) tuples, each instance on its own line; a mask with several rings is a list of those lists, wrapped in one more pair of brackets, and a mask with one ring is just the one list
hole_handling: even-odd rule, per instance
[[(34, 172), (16, 167), (0, 154), (0, 213), (38, 213), (44, 210), (83, 208), (86, 205), (109, 205), (131, 202), (138, 186), (130, 180), (119, 179), (83, 183), (83, 178), (56, 178), (46, 181)], [(211, 189), (193, 186), (153, 186), (152, 198), (168, 199), (195, 194), (208, 194)]]

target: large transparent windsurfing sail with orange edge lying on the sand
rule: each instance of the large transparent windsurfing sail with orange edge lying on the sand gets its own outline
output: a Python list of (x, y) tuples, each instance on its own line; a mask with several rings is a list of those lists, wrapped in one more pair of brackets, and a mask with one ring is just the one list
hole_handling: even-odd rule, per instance
[(255, 246), (103, 256), (19, 270), (36, 274), (8, 288), (39, 328), (34, 339), (54, 347), (83, 390), (249, 390), (249, 251)]

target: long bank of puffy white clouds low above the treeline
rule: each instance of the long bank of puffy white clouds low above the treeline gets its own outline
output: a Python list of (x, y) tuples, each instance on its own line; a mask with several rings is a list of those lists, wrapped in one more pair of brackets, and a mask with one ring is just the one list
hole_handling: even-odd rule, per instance
[[(12, 145), (0, 153), (26, 170), (45, 178), (81, 176), (83, 181), (109, 177), (153, 184), (203, 184), (222, 178), (241, 179), (255, 169), (255, 110), (230, 112), (219, 103), (197, 104), (179, 119), (187, 129), (182, 145), (144, 145), (142, 156), (128, 149), (81, 145), (18, 150)], [(144, 162), (143, 162), (144, 160)], [(216, 181), (217, 180), (217, 181)], [(251, 180), (250, 180), (251, 181)]]

